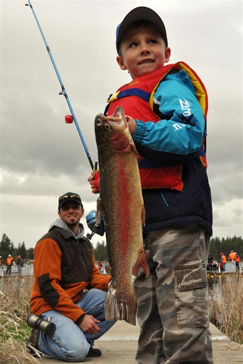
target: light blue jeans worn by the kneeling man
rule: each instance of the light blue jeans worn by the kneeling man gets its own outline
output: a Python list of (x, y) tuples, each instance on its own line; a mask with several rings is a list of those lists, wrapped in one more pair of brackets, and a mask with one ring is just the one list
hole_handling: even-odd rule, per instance
[(104, 301), (106, 291), (91, 289), (83, 293), (80, 301), (76, 303), (86, 314), (100, 320), (97, 326), (101, 333), (96, 335), (84, 333), (70, 318), (62, 315), (56, 310), (44, 312), (42, 317), (51, 318), (56, 325), (53, 335), (47, 335), (40, 331), (38, 349), (44, 354), (56, 359), (75, 362), (82, 361), (88, 354), (94, 340), (104, 335), (116, 322), (105, 319)]

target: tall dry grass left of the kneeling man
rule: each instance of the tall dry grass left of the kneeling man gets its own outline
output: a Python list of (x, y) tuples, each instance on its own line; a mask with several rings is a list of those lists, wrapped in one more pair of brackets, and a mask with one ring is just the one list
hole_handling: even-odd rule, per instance
[(31, 331), (26, 319), (32, 285), (32, 276), (0, 279), (0, 363), (39, 362), (26, 351), (25, 344)]

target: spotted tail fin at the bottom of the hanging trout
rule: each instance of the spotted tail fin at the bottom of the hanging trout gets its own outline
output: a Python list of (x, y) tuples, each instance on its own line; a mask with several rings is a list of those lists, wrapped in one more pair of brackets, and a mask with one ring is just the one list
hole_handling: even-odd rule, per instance
[(137, 301), (134, 295), (119, 293), (112, 287), (107, 291), (105, 300), (105, 318), (107, 320), (124, 320), (136, 325)]

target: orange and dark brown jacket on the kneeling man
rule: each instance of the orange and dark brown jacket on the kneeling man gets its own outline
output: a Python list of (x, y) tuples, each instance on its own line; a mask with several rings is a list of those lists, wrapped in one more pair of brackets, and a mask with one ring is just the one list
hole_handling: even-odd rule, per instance
[(80, 324), (85, 312), (75, 303), (83, 290), (107, 290), (111, 276), (100, 274), (95, 267), (87, 238), (64, 239), (62, 233), (61, 229), (54, 228), (35, 246), (31, 312), (41, 315), (55, 309)]

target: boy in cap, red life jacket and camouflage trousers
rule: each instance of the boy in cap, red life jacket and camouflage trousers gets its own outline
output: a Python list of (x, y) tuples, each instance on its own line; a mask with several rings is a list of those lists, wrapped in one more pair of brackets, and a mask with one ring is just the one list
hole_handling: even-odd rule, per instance
[[(139, 364), (212, 363), (206, 262), (212, 234), (204, 142), (207, 93), (171, 50), (161, 18), (130, 11), (116, 30), (116, 58), (133, 81), (106, 109), (123, 107), (139, 153), (146, 209), (144, 248), (150, 276), (134, 281)], [(88, 178), (96, 193), (97, 174)]]

